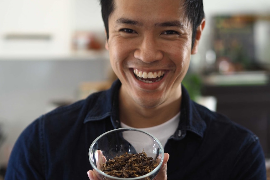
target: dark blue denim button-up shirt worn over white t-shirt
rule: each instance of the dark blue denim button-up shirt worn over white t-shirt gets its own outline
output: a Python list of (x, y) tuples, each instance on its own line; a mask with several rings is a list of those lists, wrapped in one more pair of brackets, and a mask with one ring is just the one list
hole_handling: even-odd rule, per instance
[[(5, 179), (88, 179), (92, 141), (120, 127), (120, 86), (117, 80), (110, 90), (59, 107), (31, 123), (13, 147)], [(168, 180), (265, 180), (258, 137), (191, 101), (184, 87), (182, 91), (179, 126), (164, 147), (170, 154)]]

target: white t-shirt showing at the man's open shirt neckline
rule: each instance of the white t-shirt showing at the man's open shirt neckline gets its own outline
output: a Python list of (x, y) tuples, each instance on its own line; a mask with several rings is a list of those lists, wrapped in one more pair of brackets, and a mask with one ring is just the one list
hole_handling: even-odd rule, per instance
[[(176, 131), (179, 124), (179, 118), (180, 118), (180, 112), (169, 121), (166, 121), (163, 124), (160, 124), (158, 126), (146, 127), (146, 128), (134, 128), (131, 126), (127, 126), (126, 124), (121, 122), (121, 127), (146, 131), (152, 134), (153, 136), (155, 136), (164, 147), (169, 137), (172, 136), (174, 132)], [(164, 129), (166, 129), (166, 131), (164, 131)]]

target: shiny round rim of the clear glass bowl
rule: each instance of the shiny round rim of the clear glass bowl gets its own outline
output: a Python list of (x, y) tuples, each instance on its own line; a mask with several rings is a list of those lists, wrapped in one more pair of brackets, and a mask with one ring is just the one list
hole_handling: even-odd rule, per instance
[[(139, 131), (139, 132), (142, 132), (144, 134), (147, 134), (148, 136), (151, 136), (157, 143), (158, 143), (158, 146), (160, 146), (160, 150), (161, 150), (161, 160), (158, 164), (158, 166), (153, 169), (153, 171), (143, 175), (143, 176), (139, 176), (139, 177), (130, 177), (130, 178), (122, 178), (122, 177), (113, 177), (113, 176), (110, 176), (108, 174), (106, 174), (105, 172), (102, 172), (101, 170), (99, 170), (96, 165), (94, 164), (94, 162), (91, 161), (91, 158), (90, 158), (90, 154), (91, 154), (91, 150), (94, 146), (94, 144), (96, 143), (96, 141), (98, 141), (99, 138), (101, 138), (102, 136), (106, 135), (106, 134), (109, 134), (113, 131)], [(117, 128), (117, 129), (113, 129), (113, 130), (110, 130), (110, 131), (106, 131), (104, 132), (103, 134), (101, 134), (100, 136), (98, 136), (91, 144), (91, 146), (89, 147), (89, 151), (88, 151), (88, 158), (89, 158), (89, 161), (90, 161), (90, 164), (92, 166), (93, 169), (95, 169), (98, 173), (102, 174), (103, 176), (105, 177), (109, 177), (111, 179), (125, 179), (125, 180), (138, 180), (138, 179), (143, 179), (145, 177), (149, 177), (151, 176), (152, 174), (156, 173), (156, 171), (159, 171), (161, 166), (162, 166), (162, 163), (163, 163), (163, 160), (164, 160), (164, 148), (163, 146), (161, 145), (160, 141), (155, 137), (153, 136), (152, 134), (146, 132), (146, 131), (142, 131), (142, 130), (139, 130), (139, 129), (133, 129), (133, 128)]]

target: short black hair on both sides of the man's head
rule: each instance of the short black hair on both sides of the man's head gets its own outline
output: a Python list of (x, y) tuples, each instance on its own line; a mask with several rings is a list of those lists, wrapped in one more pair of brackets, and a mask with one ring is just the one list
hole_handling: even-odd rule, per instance
[[(114, 0), (99, 0), (101, 4), (101, 14), (104, 22), (107, 39), (109, 39), (109, 16), (115, 8)], [(196, 29), (205, 17), (203, 0), (185, 0), (186, 15), (192, 24), (192, 47), (195, 42)]]

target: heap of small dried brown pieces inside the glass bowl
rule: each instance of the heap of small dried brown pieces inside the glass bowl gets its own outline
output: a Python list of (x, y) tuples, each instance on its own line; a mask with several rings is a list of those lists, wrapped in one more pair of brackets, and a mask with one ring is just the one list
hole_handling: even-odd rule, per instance
[(100, 170), (106, 174), (120, 178), (143, 176), (158, 166), (158, 162), (152, 157), (147, 157), (145, 152), (128, 154), (127, 152), (119, 157), (106, 161)]

